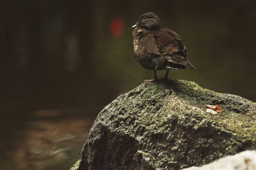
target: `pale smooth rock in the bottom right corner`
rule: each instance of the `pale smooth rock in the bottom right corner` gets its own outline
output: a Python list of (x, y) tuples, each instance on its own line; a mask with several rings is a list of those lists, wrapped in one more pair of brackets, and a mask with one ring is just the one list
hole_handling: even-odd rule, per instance
[(256, 151), (243, 151), (242, 153), (218, 159), (202, 167), (183, 170), (256, 170)]

